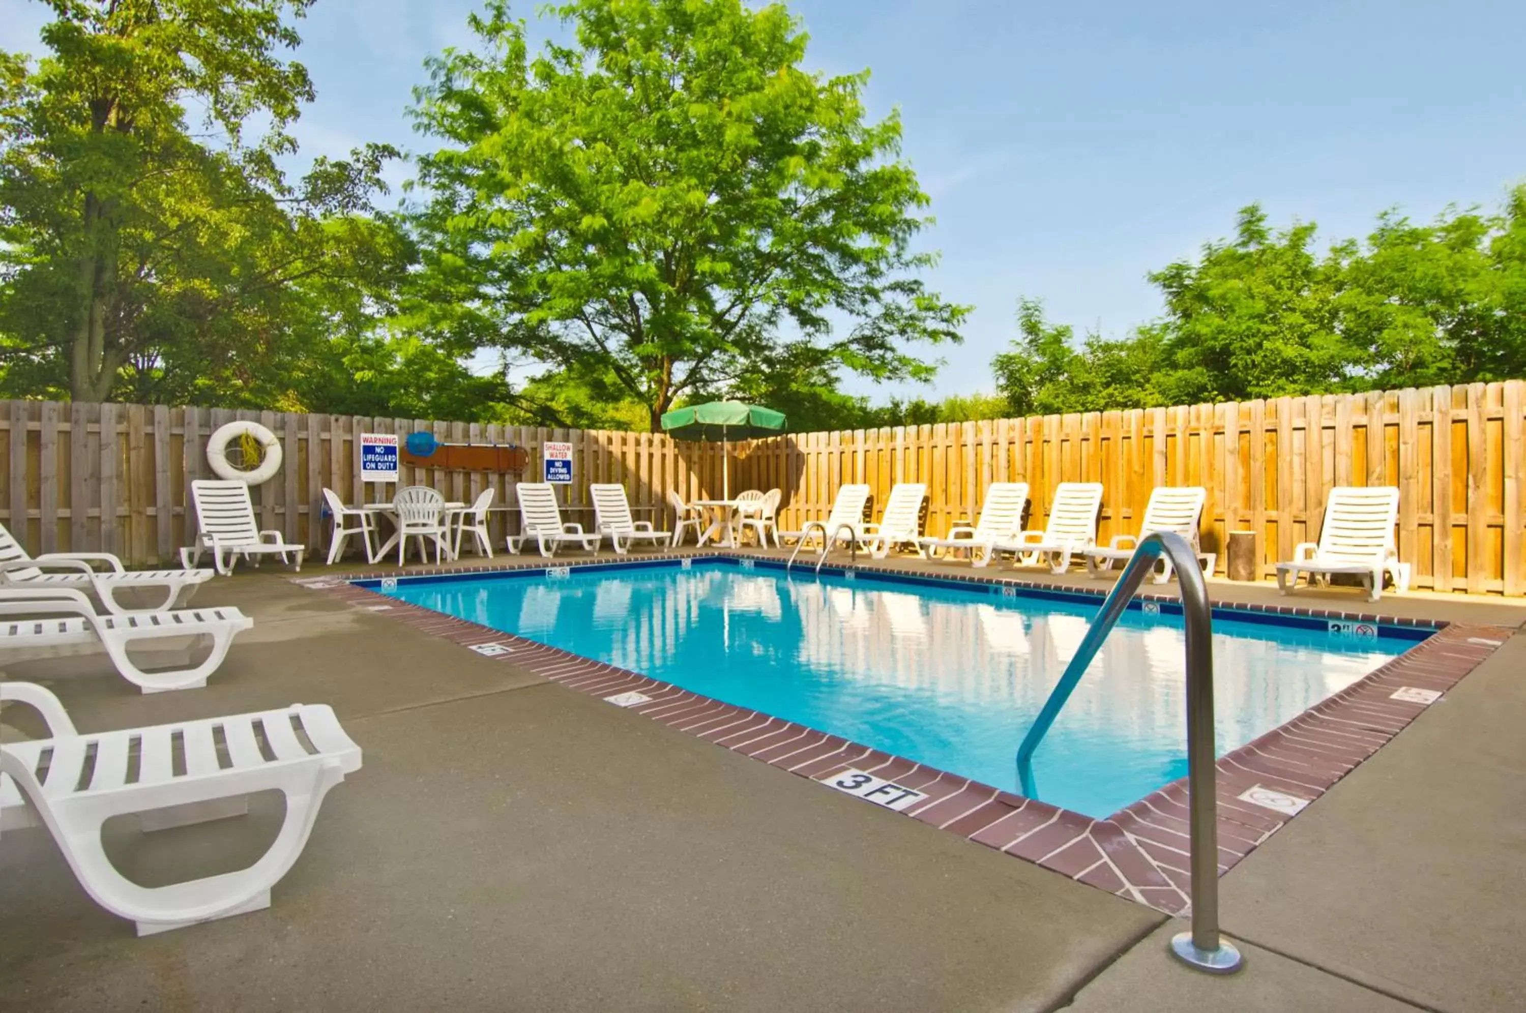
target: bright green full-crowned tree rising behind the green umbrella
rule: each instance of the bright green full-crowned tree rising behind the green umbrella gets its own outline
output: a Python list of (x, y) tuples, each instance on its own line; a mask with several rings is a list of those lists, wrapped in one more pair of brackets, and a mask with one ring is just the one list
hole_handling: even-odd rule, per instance
[[(800, 69), (783, 6), (574, 0), (575, 43), (531, 58), (490, 0), (487, 55), (447, 50), (418, 88), (433, 326), (557, 369), (612, 375), (658, 418), (775, 363), (931, 377), (908, 342), (957, 340), (964, 308), (917, 273), (926, 195), (867, 73)], [(819, 368), (809, 363), (819, 375)]]

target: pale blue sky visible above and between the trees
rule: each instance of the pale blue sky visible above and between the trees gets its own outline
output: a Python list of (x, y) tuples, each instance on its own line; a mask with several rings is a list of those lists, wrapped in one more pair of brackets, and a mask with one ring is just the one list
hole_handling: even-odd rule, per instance
[[(403, 108), (423, 59), (468, 46), (475, 0), (319, 0), (298, 58), (317, 101), (305, 154), (420, 148)], [(989, 389), (1019, 294), (1119, 336), (1158, 316), (1146, 272), (1273, 223), (1364, 235), (1378, 211), (1428, 220), (1526, 180), (1526, 5), (1506, 0), (794, 0), (807, 64), (873, 70), (932, 197), (932, 282), (975, 311), (923, 395)], [(533, 17), (534, 5), (519, 6)], [(0, 46), (37, 50), (40, 3), (0, 0)], [(543, 34), (543, 32), (542, 32)], [(406, 177), (398, 168), (394, 180)], [(893, 391), (861, 381), (850, 389)]]

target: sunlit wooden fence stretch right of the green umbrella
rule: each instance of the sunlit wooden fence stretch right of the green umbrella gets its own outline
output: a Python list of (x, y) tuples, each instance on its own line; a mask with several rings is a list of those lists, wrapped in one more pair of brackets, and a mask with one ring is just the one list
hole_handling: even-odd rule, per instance
[(1042, 528), (1054, 485), (1102, 482), (1105, 543), (1135, 534), (1157, 485), (1202, 485), (1204, 548), (1254, 531), (1259, 574), (1318, 539), (1335, 485), (1399, 487), (1399, 558), (1413, 586), (1526, 593), (1526, 383), (1047, 415), (803, 433), (752, 444), (732, 488), (784, 490), (781, 526), (823, 519), (845, 482), (876, 510), (894, 482), (926, 482), (923, 529), (974, 517), (990, 482), (1032, 487)]

